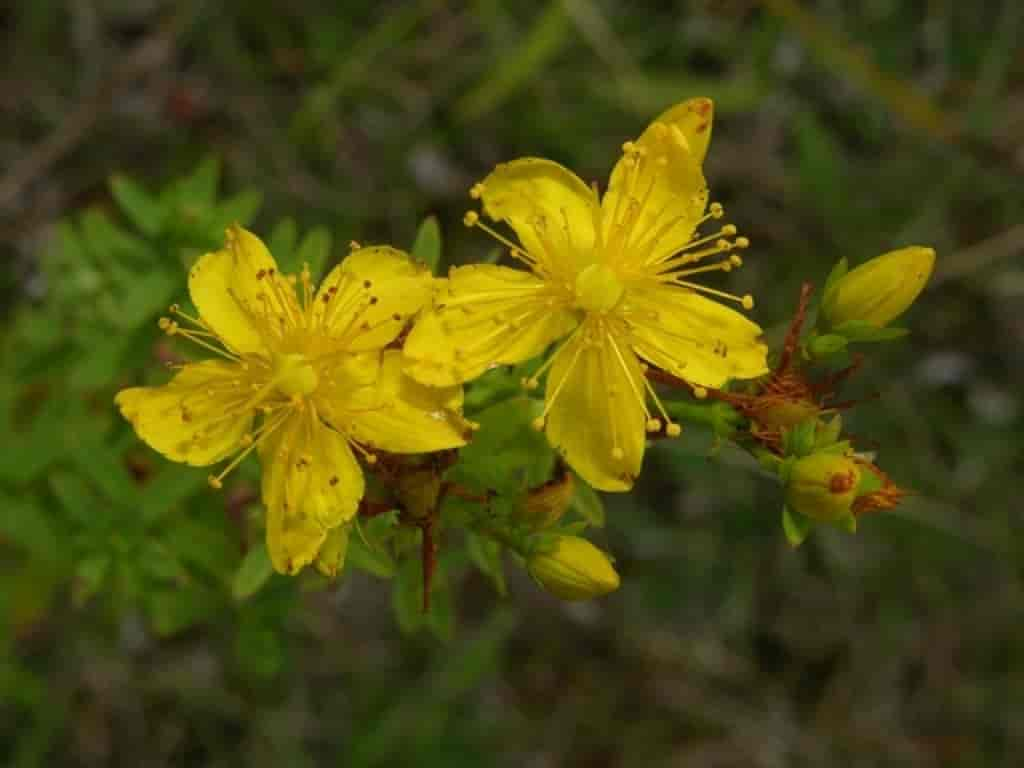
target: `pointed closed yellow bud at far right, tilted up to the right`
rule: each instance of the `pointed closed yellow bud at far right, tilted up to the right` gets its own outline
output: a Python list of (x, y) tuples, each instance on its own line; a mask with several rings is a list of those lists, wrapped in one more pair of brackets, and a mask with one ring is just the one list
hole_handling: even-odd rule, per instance
[(935, 251), (911, 246), (890, 251), (844, 274), (821, 301), (829, 327), (850, 322), (883, 328), (918, 298), (935, 264)]

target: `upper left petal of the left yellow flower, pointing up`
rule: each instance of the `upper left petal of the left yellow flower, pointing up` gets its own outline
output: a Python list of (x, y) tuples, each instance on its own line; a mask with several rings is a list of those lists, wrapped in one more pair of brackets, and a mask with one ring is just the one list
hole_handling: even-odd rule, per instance
[(278, 273), (263, 242), (247, 229), (227, 230), (227, 245), (208, 253), (188, 272), (188, 292), (202, 318), (228, 347), (258, 354), (282, 318), (297, 316), (295, 291)]

